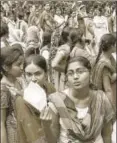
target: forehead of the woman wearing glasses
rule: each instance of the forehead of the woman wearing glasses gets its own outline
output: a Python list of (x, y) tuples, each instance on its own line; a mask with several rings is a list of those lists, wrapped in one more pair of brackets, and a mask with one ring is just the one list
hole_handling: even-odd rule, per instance
[(80, 68), (85, 68), (85, 67), (83, 66), (83, 64), (81, 62), (75, 61), (68, 65), (67, 70), (76, 70), (76, 69), (80, 69)]

